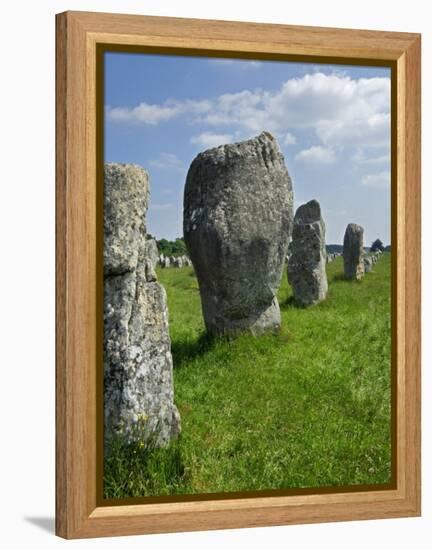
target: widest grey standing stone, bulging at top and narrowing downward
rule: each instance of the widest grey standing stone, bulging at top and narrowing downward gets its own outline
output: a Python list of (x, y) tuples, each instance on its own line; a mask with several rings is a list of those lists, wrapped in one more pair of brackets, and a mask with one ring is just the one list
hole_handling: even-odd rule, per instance
[(208, 332), (256, 334), (280, 327), (276, 292), (292, 221), (291, 178), (268, 132), (194, 159), (183, 232)]

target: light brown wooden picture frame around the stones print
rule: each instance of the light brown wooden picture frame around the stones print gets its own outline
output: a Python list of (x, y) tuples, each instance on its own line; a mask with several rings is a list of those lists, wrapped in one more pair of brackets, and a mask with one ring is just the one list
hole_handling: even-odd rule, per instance
[[(102, 327), (96, 320), (103, 236), (96, 166), (97, 57), (104, 44), (125, 51), (391, 67), (397, 246), (392, 247), (390, 487), (115, 506), (100, 502), (97, 346)], [(66, 12), (57, 15), (56, 69), (56, 533), (80, 538), (419, 515), (420, 35)]]

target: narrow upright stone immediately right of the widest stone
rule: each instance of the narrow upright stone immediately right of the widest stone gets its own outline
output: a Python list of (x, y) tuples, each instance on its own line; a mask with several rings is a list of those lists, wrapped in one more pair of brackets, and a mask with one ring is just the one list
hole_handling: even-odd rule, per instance
[(316, 200), (300, 206), (294, 217), (288, 281), (300, 306), (317, 304), (327, 295), (325, 224)]

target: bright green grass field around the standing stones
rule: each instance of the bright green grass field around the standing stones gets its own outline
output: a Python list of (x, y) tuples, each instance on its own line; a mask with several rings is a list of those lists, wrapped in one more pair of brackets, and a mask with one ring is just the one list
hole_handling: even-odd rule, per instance
[(167, 449), (119, 445), (107, 498), (384, 483), (390, 478), (390, 254), (361, 282), (327, 266), (328, 298), (292, 304), (282, 331), (211, 341), (191, 268), (168, 294), (182, 433)]

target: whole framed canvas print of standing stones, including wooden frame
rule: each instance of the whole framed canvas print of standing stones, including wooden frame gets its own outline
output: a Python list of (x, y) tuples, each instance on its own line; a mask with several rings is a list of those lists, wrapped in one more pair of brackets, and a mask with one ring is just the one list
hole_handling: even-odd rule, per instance
[(420, 36), (57, 16), (56, 530), (420, 514)]

